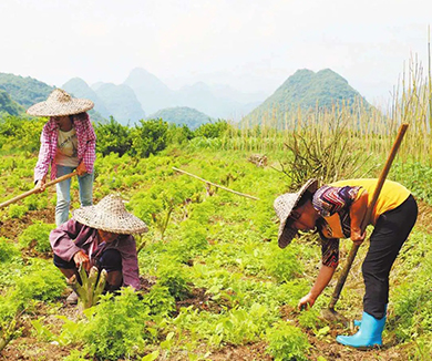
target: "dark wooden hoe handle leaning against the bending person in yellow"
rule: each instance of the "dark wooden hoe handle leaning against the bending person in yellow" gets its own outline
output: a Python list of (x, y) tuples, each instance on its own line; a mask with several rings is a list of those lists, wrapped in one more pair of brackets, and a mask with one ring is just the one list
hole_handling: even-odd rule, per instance
[[(378, 179), (377, 188), (373, 192), (372, 200), (370, 202), (368, 209), (367, 209), (367, 213), (364, 215), (364, 218), (361, 223), (361, 231), (362, 233), (366, 230), (366, 227), (369, 225), (369, 220), (372, 216), (372, 212), (373, 212), (373, 208), (376, 206), (377, 199), (380, 195), (382, 186), (384, 185), (387, 175), (389, 174), (391, 164), (393, 163), (393, 159), (398, 153), (398, 149), (399, 149), (399, 146), (401, 145), (402, 138), (405, 135), (407, 128), (408, 128), (408, 124), (401, 124), (401, 126), (399, 127), (398, 136), (394, 141), (393, 147), (390, 151), (390, 155), (385, 162), (385, 165), (381, 171), (380, 177)], [(329, 309), (331, 311), (335, 311), (335, 305), (339, 300), (340, 292), (342, 291), (343, 285), (347, 280), (348, 274), (351, 269), (352, 262), (356, 258), (356, 255), (357, 255), (357, 251), (359, 250), (359, 247), (360, 246), (358, 246), (358, 245), (352, 245), (352, 247), (351, 247), (351, 250), (348, 255), (347, 265), (344, 266), (344, 268), (343, 268), (343, 270), (338, 279), (338, 283), (335, 287), (333, 293), (331, 295), (331, 300), (329, 303)]]

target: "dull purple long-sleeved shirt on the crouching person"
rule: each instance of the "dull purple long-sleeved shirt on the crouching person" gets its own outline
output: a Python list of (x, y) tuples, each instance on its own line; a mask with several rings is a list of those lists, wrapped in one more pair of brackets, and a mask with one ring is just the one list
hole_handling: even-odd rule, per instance
[[(97, 244), (96, 236), (96, 229), (84, 226), (72, 218), (51, 231), (50, 243), (56, 256), (71, 261), (80, 250), (89, 255), (91, 245)], [(123, 286), (132, 286), (138, 290), (141, 283), (135, 238), (131, 235), (120, 235), (113, 243), (105, 244), (103, 247), (104, 250), (115, 249), (120, 252), (122, 256)]]

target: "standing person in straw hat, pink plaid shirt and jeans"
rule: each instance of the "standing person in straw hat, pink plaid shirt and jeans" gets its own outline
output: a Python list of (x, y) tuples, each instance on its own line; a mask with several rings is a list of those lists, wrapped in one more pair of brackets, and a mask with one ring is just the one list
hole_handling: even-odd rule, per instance
[[(73, 99), (65, 91), (55, 89), (45, 102), (32, 105), (27, 111), (34, 116), (48, 116), (43, 126), (41, 147), (34, 168), (34, 187), (45, 189), (45, 179), (51, 165), (51, 179), (78, 172), (81, 206), (93, 204), (93, 164), (96, 158), (96, 135), (86, 111), (94, 106), (86, 99)], [(71, 179), (56, 184), (55, 224), (69, 218)]]

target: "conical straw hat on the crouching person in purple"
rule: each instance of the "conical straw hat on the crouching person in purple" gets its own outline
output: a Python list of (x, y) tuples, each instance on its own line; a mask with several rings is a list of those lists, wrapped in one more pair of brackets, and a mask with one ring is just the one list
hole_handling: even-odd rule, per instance
[(122, 198), (115, 195), (104, 197), (95, 206), (75, 209), (72, 214), (83, 225), (114, 234), (131, 235), (148, 230), (147, 225), (130, 214)]

